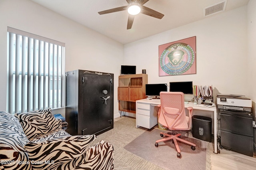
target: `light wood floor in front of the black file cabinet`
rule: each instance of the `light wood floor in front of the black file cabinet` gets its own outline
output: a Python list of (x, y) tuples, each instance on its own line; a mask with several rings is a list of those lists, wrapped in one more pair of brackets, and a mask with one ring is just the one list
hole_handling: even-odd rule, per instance
[[(115, 118), (118, 121), (122, 117)], [(233, 151), (220, 149), (219, 154), (214, 152), (214, 142), (210, 145), (212, 170), (254, 170), (256, 169), (256, 155), (246, 156)]]

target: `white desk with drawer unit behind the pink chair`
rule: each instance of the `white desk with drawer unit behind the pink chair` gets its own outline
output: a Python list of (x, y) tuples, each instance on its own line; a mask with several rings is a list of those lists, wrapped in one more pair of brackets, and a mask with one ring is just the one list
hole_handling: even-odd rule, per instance
[[(145, 127), (152, 128), (158, 124), (157, 114), (158, 107), (160, 105), (160, 99), (141, 99), (136, 101), (136, 128)], [(194, 105), (194, 103), (189, 102), (185, 104), (185, 108), (193, 107), (193, 110), (202, 110), (202, 111), (210, 111), (214, 114), (214, 153), (218, 153), (217, 151), (217, 109), (214, 107), (198, 107)], [(195, 113), (193, 111), (193, 113)], [(194, 114), (193, 114), (194, 115)]]

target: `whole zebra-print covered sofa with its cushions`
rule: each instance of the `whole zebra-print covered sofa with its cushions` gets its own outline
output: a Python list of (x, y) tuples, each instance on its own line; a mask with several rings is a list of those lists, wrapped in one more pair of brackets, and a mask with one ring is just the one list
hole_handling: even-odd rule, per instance
[(50, 108), (15, 116), (0, 112), (0, 170), (114, 168), (110, 143), (90, 146), (95, 135), (71, 136)]

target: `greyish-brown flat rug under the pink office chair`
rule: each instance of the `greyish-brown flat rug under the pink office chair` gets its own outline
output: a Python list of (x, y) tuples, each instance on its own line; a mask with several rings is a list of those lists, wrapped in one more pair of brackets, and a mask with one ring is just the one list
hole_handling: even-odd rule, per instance
[(172, 140), (159, 142), (158, 147), (154, 146), (155, 141), (162, 138), (160, 132), (166, 133), (167, 131), (158, 128), (154, 128), (151, 131), (145, 131), (126, 145), (124, 149), (164, 168), (165, 170), (206, 169), (206, 149), (208, 142), (181, 136), (181, 138), (196, 144), (196, 150), (192, 150), (188, 144), (178, 142), (181, 150), (181, 158), (177, 158), (177, 151)]

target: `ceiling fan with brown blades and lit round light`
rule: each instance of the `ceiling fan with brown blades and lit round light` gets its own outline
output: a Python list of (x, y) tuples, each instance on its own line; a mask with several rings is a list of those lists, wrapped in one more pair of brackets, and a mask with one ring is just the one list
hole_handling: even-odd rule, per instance
[(142, 13), (148, 16), (152, 16), (154, 18), (162, 19), (164, 17), (164, 14), (161, 14), (160, 12), (157, 12), (155, 10), (152, 10), (146, 6), (143, 6), (146, 2), (149, 0), (126, 0), (128, 2), (127, 6), (121, 6), (118, 8), (112, 8), (109, 10), (104, 10), (98, 12), (100, 15), (102, 14), (109, 14), (112, 12), (118, 12), (118, 11), (124, 11), (127, 10), (129, 13), (128, 16), (128, 22), (127, 22), (127, 30), (132, 28), (132, 23), (134, 20), (134, 16)]

